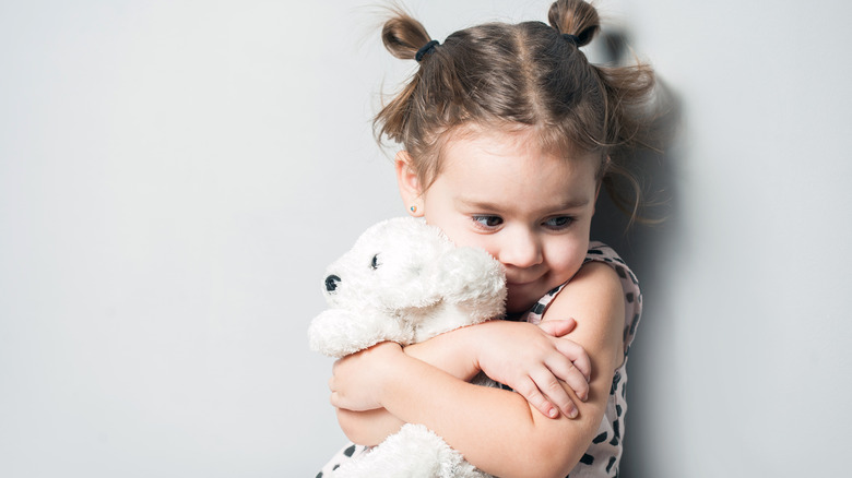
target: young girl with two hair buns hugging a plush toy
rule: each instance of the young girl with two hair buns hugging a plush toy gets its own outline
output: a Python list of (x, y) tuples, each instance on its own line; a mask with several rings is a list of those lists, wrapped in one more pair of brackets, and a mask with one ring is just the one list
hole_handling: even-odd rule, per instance
[[(331, 403), (357, 445), (318, 476), (405, 422), (499, 477), (618, 474), (641, 296), (589, 231), (601, 186), (615, 184), (640, 142), (653, 76), (587, 61), (579, 48), (600, 25), (582, 0), (559, 0), (548, 16), (549, 26), (484, 24), (442, 44), (403, 13), (384, 24), (391, 53), (419, 63), (376, 118), (404, 146), (402, 199), (457, 244), (500, 261), (509, 320), (339, 360)], [(478, 371), (512, 390), (470, 384)]]

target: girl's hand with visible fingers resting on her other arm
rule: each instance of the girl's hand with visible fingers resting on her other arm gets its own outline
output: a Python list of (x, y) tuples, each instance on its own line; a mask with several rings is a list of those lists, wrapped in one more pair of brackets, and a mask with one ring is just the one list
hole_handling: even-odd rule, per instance
[(485, 335), (476, 343), (478, 368), (492, 379), (520, 393), (546, 417), (561, 410), (577, 416), (568, 394), (589, 397), (591, 361), (585, 350), (563, 337), (575, 321), (546, 321), (536, 326), (525, 322), (492, 321), (476, 325)]

